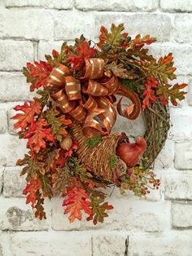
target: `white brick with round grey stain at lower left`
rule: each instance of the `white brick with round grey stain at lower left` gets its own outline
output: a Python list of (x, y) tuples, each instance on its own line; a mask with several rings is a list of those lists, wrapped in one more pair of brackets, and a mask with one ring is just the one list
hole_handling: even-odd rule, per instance
[[(0, 199), (3, 205), (0, 211), (0, 230), (33, 231), (47, 230), (48, 220), (39, 220), (34, 217), (30, 205), (24, 199)], [(49, 214), (47, 214), (49, 216)]]

